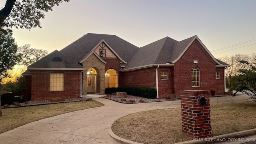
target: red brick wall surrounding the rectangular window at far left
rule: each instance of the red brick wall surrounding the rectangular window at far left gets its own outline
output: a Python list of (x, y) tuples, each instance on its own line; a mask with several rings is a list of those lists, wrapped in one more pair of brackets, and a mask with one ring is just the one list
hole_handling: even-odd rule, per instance
[[(31, 100), (80, 98), (80, 70), (31, 70)], [(50, 73), (64, 73), (64, 90), (50, 91)]]

